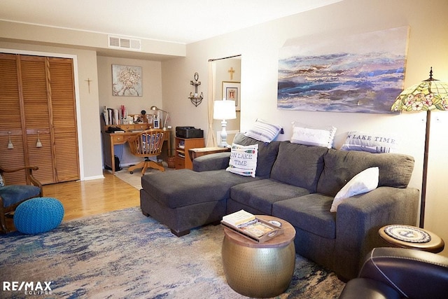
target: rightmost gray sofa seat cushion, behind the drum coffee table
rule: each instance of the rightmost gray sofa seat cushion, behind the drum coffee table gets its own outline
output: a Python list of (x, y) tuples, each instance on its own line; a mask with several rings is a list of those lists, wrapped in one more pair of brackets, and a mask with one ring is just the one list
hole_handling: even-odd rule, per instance
[(332, 197), (320, 193), (281, 200), (272, 204), (272, 216), (314, 235), (335, 239), (336, 213), (330, 213), (332, 200)]

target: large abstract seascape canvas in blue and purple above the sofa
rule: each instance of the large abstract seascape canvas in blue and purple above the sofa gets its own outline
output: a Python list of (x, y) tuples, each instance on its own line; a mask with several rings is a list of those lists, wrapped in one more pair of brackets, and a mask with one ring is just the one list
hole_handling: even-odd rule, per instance
[(302, 39), (280, 49), (277, 108), (394, 113), (402, 91), (408, 27), (330, 39)]

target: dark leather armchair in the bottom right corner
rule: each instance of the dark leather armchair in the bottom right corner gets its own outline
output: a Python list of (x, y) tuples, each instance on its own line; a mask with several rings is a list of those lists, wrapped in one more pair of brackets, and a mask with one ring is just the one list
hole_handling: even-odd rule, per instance
[(447, 298), (448, 258), (403, 248), (375, 248), (339, 298)]

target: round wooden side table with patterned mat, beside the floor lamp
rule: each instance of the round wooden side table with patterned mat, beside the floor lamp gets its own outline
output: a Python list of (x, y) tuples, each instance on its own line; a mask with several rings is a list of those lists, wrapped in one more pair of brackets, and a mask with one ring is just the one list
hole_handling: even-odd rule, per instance
[(445, 246), (443, 240), (434, 232), (412, 225), (386, 225), (378, 232), (381, 239), (395, 247), (439, 253)]

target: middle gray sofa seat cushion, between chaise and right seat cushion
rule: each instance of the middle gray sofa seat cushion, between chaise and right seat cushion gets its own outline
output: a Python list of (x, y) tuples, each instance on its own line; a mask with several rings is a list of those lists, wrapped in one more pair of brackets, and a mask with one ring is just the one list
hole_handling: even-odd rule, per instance
[(230, 197), (235, 202), (255, 207), (262, 213), (272, 214), (272, 203), (308, 194), (308, 190), (273, 179), (260, 179), (249, 183), (241, 183), (230, 189)]

